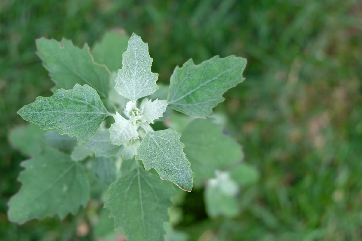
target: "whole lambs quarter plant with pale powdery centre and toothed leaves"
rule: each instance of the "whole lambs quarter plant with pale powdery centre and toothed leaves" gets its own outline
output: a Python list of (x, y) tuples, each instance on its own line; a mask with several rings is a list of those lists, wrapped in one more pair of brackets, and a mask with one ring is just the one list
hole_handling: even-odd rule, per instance
[[(87, 206), (94, 179), (108, 190), (104, 207), (127, 240), (164, 239), (174, 185), (191, 191), (205, 184), (210, 216), (237, 214), (243, 153), (206, 117), (244, 80), (245, 59), (215, 56), (199, 65), (190, 59), (174, 69), (167, 90), (156, 85), (148, 44), (136, 34), (128, 39), (124, 31), (110, 31), (92, 51), (67, 39), (36, 44), (54, 94), (18, 111), (40, 129), (29, 124), (10, 133), (13, 145), (31, 157), (21, 164), (10, 220), (75, 214)], [(177, 131), (154, 130), (156, 121)]]

